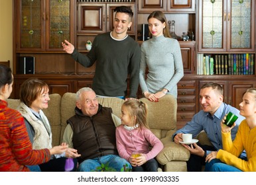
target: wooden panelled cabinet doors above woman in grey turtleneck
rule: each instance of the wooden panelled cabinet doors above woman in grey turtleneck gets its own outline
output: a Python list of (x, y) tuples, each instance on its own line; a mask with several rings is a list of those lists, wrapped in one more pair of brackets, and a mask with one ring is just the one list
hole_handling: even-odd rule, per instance
[(141, 0), (138, 7), (139, 12), (195, 13), (195, 0)]

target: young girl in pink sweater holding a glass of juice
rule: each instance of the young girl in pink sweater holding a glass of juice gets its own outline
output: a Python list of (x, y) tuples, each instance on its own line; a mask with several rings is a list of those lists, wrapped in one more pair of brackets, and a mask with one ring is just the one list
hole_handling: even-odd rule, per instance
[(118, 153), (131, 163), (133, 171), (157, 172), (158, 163), (154, 158), (164, 146), (147, 125), (147, 104), (125, 101), (121, 108), (121, 125), (115, 135)]

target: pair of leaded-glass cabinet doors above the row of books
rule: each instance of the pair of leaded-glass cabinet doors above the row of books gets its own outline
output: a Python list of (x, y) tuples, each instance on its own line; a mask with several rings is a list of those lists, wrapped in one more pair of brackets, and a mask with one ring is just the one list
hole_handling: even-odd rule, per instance
[(198, 1), (199, 52), (255, 52), (255, 1)]

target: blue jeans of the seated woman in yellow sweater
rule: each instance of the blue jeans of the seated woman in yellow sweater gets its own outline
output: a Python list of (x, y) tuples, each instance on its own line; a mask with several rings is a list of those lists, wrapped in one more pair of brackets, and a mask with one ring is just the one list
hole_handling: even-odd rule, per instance
[(234, 166), (230, 166), (225, 163), (222, 163), (220, 159), (213, 159), (212, 161), (210, 161), (210, 163), (206, 163), (206, 168), (204, 171), (206, 172), (242, 172), (242, 170), (239, 170)]

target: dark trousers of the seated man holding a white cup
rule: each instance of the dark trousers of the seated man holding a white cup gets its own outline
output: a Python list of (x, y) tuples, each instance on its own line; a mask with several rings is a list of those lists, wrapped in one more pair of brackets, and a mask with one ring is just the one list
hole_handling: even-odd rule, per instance
[[(204, 150), (204, 151), (216, 151), (215, 147), (211, 147), (208, 145), (198, 145)], [(190, 154), (190, 159), (186, 162), (186, 166), (188, 168), (188, 172), (201, 172), (202, 166), (206, 165), (206, 158), (200, 157), (198, 155)]]

